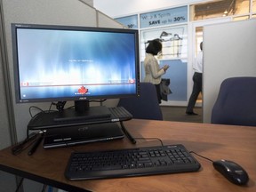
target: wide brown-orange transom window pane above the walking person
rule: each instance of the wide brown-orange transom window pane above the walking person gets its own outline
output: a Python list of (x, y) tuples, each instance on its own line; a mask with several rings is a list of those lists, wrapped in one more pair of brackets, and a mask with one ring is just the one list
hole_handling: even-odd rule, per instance
[(190, 5), (190, 20), (206, 20), (249, 13), (249, 4), (250, 0), (215, 0)]

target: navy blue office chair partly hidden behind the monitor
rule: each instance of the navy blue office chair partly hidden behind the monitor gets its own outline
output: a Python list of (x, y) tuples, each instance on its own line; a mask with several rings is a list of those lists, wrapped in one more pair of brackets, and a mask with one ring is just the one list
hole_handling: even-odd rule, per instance
[(117, 106), (124, 107), (133, 118), (163, 120), (154, 84), (140, 83), (140, 97), (121, 98)]

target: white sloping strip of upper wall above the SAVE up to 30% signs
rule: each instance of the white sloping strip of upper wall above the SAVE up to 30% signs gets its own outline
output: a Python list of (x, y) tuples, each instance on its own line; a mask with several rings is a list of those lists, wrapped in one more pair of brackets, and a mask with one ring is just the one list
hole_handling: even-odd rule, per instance
[[(209, 1), (209, 0), (208, 0)], [(172, 6), (206, 2), (205, 0), (94, 0), (94, 7), (108, 16), (122, 17), (138, 12), (165, 9)]]

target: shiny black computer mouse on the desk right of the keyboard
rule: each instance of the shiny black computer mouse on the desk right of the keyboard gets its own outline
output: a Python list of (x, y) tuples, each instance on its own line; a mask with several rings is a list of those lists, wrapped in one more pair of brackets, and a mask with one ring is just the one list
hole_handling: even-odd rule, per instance
[(236, 185), (245, 185), (249, 180), (249, 176), (243, 167), (233, 161), (222, 159), (214, 161), (212, 164), (218, 172)]

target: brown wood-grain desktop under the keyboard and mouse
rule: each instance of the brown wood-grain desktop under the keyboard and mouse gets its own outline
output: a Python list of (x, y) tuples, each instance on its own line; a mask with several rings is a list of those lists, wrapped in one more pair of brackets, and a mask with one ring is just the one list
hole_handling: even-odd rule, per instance
[(240, 187), (230, 183), (212, 163), (196, 156), (202, 164), (200, 172), (165, 174), (108, 180), (70, 181), (64, 170), (74, 150), (132, 148), (160, 145), (157, 140), (137, 140), (134, 146), (126, 138), (104, 143), (86, 144), (72, 148), (38, 148), (33, 156), (28, 151), (12, 156), (11, 148), (0, 151), (0, 169), (30, 180), (69, 191), (256, 191), (256, 127), (191, 124), (133, 119), (124, 122), (135, 138), (160, 138), (164, 144), (183, 144), (188, 150), (212, 160), (220, 158), (241, 164), (250, 181)]

